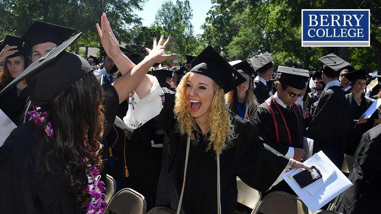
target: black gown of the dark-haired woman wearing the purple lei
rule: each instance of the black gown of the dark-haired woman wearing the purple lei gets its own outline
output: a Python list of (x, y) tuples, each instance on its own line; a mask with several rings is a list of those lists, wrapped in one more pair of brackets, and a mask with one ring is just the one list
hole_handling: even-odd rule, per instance
[[(118, 94), (112, 86), (104, 87), (104, 91), (106, 117), (115, 117), (112, 105), (118, 104)], [(0, 147), (1, 213), (84, 213), (69, 193), (68, 178), (62, 176), (54, 158), (46, 159), (53, 143), (33, 120), (14, 129), (5, 140)], [(54, 174), (48, 172), (46, 164)], [(87, 183), (87, 178), (82, 181)]]

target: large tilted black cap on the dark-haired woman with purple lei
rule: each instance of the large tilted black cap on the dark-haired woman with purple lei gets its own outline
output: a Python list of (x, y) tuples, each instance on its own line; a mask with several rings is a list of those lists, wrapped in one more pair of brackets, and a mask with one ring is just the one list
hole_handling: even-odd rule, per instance
[(0, 95), (25, 79), (32, 104), (42, 106), (58, 97), (86, 73), (93, 72), (93, 67), (83, 57), (65, 51), (81, 35), (75, 35), (30, 64)]

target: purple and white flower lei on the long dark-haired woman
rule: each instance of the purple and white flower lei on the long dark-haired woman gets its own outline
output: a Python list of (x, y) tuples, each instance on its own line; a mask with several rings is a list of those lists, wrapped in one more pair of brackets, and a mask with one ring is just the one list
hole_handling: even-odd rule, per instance
[[(36, 126), (39, 128), (42, 125), (42, 122), (48, 112), (37, 112), (40, 107), (36, 107), (34, 105), (32, 105), (32, 107), (34, 111), (28, 112), (28, 114), (30, 115), (30, 120), (33, 120), (36, 123)], [(49, 137), (53, 138), (54, 132), (50, 122), (47, 123), (45, 132)], [(88, 146), (87, 140), (84, 143), (86, 146)], [(80, 157), (80, 160), (83, 162), (88, 161), (84, 160), (82, 157)], [(90, 164), (88, 164), (88, 167), (86, 168), (86, 175), (88, 180), (86, 190), (91, 195), (91, 201), (86, 206), (85, 214), (103, 214), (103, 212), (106, 210), (107, 203), (103, 200), (105, 197), (103, 193), (105, 188), (103, 181), (100, 180), (101, 175), (99, 174), (99, 169), (97, 169), (96, 166), (92, 167)]]

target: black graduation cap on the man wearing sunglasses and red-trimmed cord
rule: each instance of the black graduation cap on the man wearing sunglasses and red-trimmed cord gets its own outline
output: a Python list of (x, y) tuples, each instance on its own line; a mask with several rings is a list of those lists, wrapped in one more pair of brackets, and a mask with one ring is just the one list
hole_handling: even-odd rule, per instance
[(293, 88), (303, 90), (310, 75), (308, 70), (291, 68), (286, 66), (278, 67), (279, 82)]

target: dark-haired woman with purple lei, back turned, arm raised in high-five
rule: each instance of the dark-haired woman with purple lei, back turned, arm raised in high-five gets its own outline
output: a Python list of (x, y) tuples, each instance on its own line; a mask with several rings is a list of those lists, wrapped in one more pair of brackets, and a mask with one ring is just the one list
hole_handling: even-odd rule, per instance
[[(138, 85), (165, 54), (169, 39), (155, 45), (149, 55), (134, 65), (119, 50), (106, 14), (101, 42), (125, 74), (113, 84), (101, 86), (91, 65), (81, 56), (64, 51), (82, 33), (62, 43), (31, 64), (1, 94), (25, 79), (34, 105), (32, 120), (23, 123), (0, 147), (0, 204), (4, 213), (102, 213), (104, 185), (102, 133), (112, 125), (118, 104)], [(113, 43), (109, 41), (112, 40)], [(67, 69), (68, 68), (68, 69)]]

